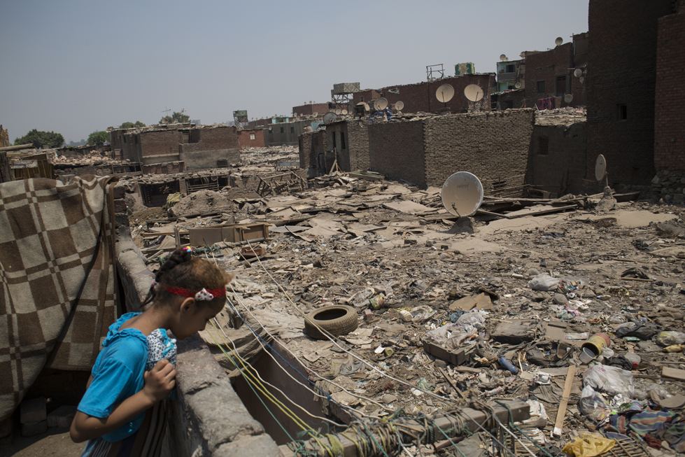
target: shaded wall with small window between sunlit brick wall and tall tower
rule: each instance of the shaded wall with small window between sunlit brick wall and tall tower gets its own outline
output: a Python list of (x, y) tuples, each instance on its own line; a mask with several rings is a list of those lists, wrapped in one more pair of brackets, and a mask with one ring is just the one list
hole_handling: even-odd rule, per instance
[(587, 143), (587, 122), (535, 125), (530, 184), (559, 197), (579, 193), (580, 183), (585, 178)]

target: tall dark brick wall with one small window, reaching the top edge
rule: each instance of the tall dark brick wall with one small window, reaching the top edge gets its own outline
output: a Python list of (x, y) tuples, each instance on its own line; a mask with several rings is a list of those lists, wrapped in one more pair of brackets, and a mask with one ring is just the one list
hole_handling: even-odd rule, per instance
[(671, 3), (590, 1), (586, 176), (594, 176), (600, 154), (612, 184), (649, 183), (654, 176), (657, 20)]

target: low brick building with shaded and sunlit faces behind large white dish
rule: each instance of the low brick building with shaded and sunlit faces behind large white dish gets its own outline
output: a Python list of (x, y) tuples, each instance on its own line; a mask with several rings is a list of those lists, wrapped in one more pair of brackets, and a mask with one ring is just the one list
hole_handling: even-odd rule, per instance
[(368, 127), (370, 168), (422, 188), (469, 171), (486, 192), (523, 192), (534, 123), (530, 108), (376, 122)]

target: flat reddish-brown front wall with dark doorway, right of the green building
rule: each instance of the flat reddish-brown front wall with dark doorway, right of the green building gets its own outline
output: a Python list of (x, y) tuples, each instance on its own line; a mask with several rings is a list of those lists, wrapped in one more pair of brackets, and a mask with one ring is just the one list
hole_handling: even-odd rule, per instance
[[(578, 78), (572, 76), (573, 67), (573, 43), (564, 43), (555, 48), (536, 52), (525, 56), (525, 106), (535, 107), (538, 99), (557, 97), (556, 78), (563, 77), (567, 81), (564, 88), (567, 92), (574, 94), (571, 106), (584, 105), (584, 100), (576, 100), (576, 93), (580, 90), (573, 90), (574, 87), (582, 85)], [(537, 92), (537, 82), (544, 81), (544, 92)], [(555, 99), (553, 108), (567, 106), (563, 101), (563, 96)]]

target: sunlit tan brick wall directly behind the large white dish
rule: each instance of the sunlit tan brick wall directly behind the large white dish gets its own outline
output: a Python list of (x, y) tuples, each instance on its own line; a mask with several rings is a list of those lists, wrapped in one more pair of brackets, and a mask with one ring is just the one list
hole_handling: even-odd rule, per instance
[(437, 116), (423, 121), (425, 185), (442, 187), (457, 171), (478, 176), (483, 190), (525, 183), (530, 139), (535, 124), (531, 108)]

